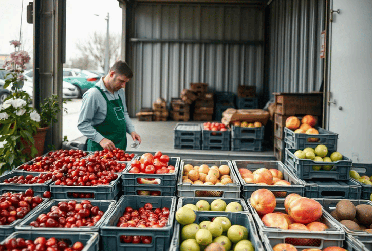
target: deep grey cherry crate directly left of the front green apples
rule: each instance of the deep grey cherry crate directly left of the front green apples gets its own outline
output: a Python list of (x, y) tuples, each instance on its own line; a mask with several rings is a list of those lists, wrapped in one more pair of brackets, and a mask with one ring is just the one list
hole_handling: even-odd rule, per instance
[[(115, 208), (107, 216), (100, 230), (102, 240), (102, 250), (126, 250), (126, 251), (165, 251), (165, 247), (169, 245), (173, 234), (173, 222), (175, 218), (177, 198), (175, 196), (122, 196)], [(168, 222), (161, 228), (137, 228), (137, 227), (117, 227), (119, 218), (123, 215), (125, 208), (131, 206), (133, 208), (143, 207), (144, 204), (151, 203), (153, 208), (169, 208)], [(132, 244), (121, 243), (120, 236), (122, 235), (138, 235), (151, 236), (150, 244)]]

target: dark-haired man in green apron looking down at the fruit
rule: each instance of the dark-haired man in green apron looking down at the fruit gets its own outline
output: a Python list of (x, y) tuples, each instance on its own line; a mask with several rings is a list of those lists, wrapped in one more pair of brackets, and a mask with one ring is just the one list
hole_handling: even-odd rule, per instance
[(78, 129), (88, 138), (88, 151), (126, 150), (126, 133), (141, 143), (125, 104), (125, 85), (133, 77), (126, 62), (117, 61), (106, 76), (83, 95)]

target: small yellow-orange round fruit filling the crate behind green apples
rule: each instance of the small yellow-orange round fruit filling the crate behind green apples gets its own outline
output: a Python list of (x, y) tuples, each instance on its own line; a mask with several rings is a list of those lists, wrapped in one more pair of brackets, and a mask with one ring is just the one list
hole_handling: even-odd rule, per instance
[(182, 183), (190, 183), (194, 185), (226, 185), (233, 184), (230, 176), (230, 168), (228, 165), (214, 165), (209, 167), (206, 164), (193, 166), (185, 164), (183, 166)]

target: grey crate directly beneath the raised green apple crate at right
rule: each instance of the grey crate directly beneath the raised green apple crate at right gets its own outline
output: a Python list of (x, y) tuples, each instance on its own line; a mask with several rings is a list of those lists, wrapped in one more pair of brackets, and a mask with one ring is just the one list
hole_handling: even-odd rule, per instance
[(362, 187), (358, 182), (350, 180), (302, 180), (305, 185), (304, 197), (360, 199)]

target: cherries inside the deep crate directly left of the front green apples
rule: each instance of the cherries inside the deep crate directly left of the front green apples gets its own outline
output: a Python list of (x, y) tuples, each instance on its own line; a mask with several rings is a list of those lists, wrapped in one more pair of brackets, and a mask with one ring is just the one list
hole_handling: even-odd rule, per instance
[[(151, 203), (146, 203), (143, 207), (138, 210), (134, 210), (132, 207), (127, 206), (124, 214), (119, 218), (117, 227), (152, 227), (159, 228), (164, 227), (169, 217), (169, 208), (156, 208), (153, 210)], [(120, 236), (122, 243), (151, 243), (151, 236)]]

